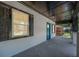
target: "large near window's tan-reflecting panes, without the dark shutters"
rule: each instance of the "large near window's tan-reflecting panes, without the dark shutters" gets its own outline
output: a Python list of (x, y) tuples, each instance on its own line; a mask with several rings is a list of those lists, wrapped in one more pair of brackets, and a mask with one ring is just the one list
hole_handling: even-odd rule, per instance
[(12, 9), (12, 37), (29, 36), (29, 14)]

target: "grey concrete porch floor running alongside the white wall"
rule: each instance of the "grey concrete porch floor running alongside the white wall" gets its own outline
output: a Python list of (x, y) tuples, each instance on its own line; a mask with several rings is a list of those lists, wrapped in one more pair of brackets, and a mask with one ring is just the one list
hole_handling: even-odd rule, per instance
[(75, 57), (76, 46), (63, 38), (54, 38), (13, 57)]

